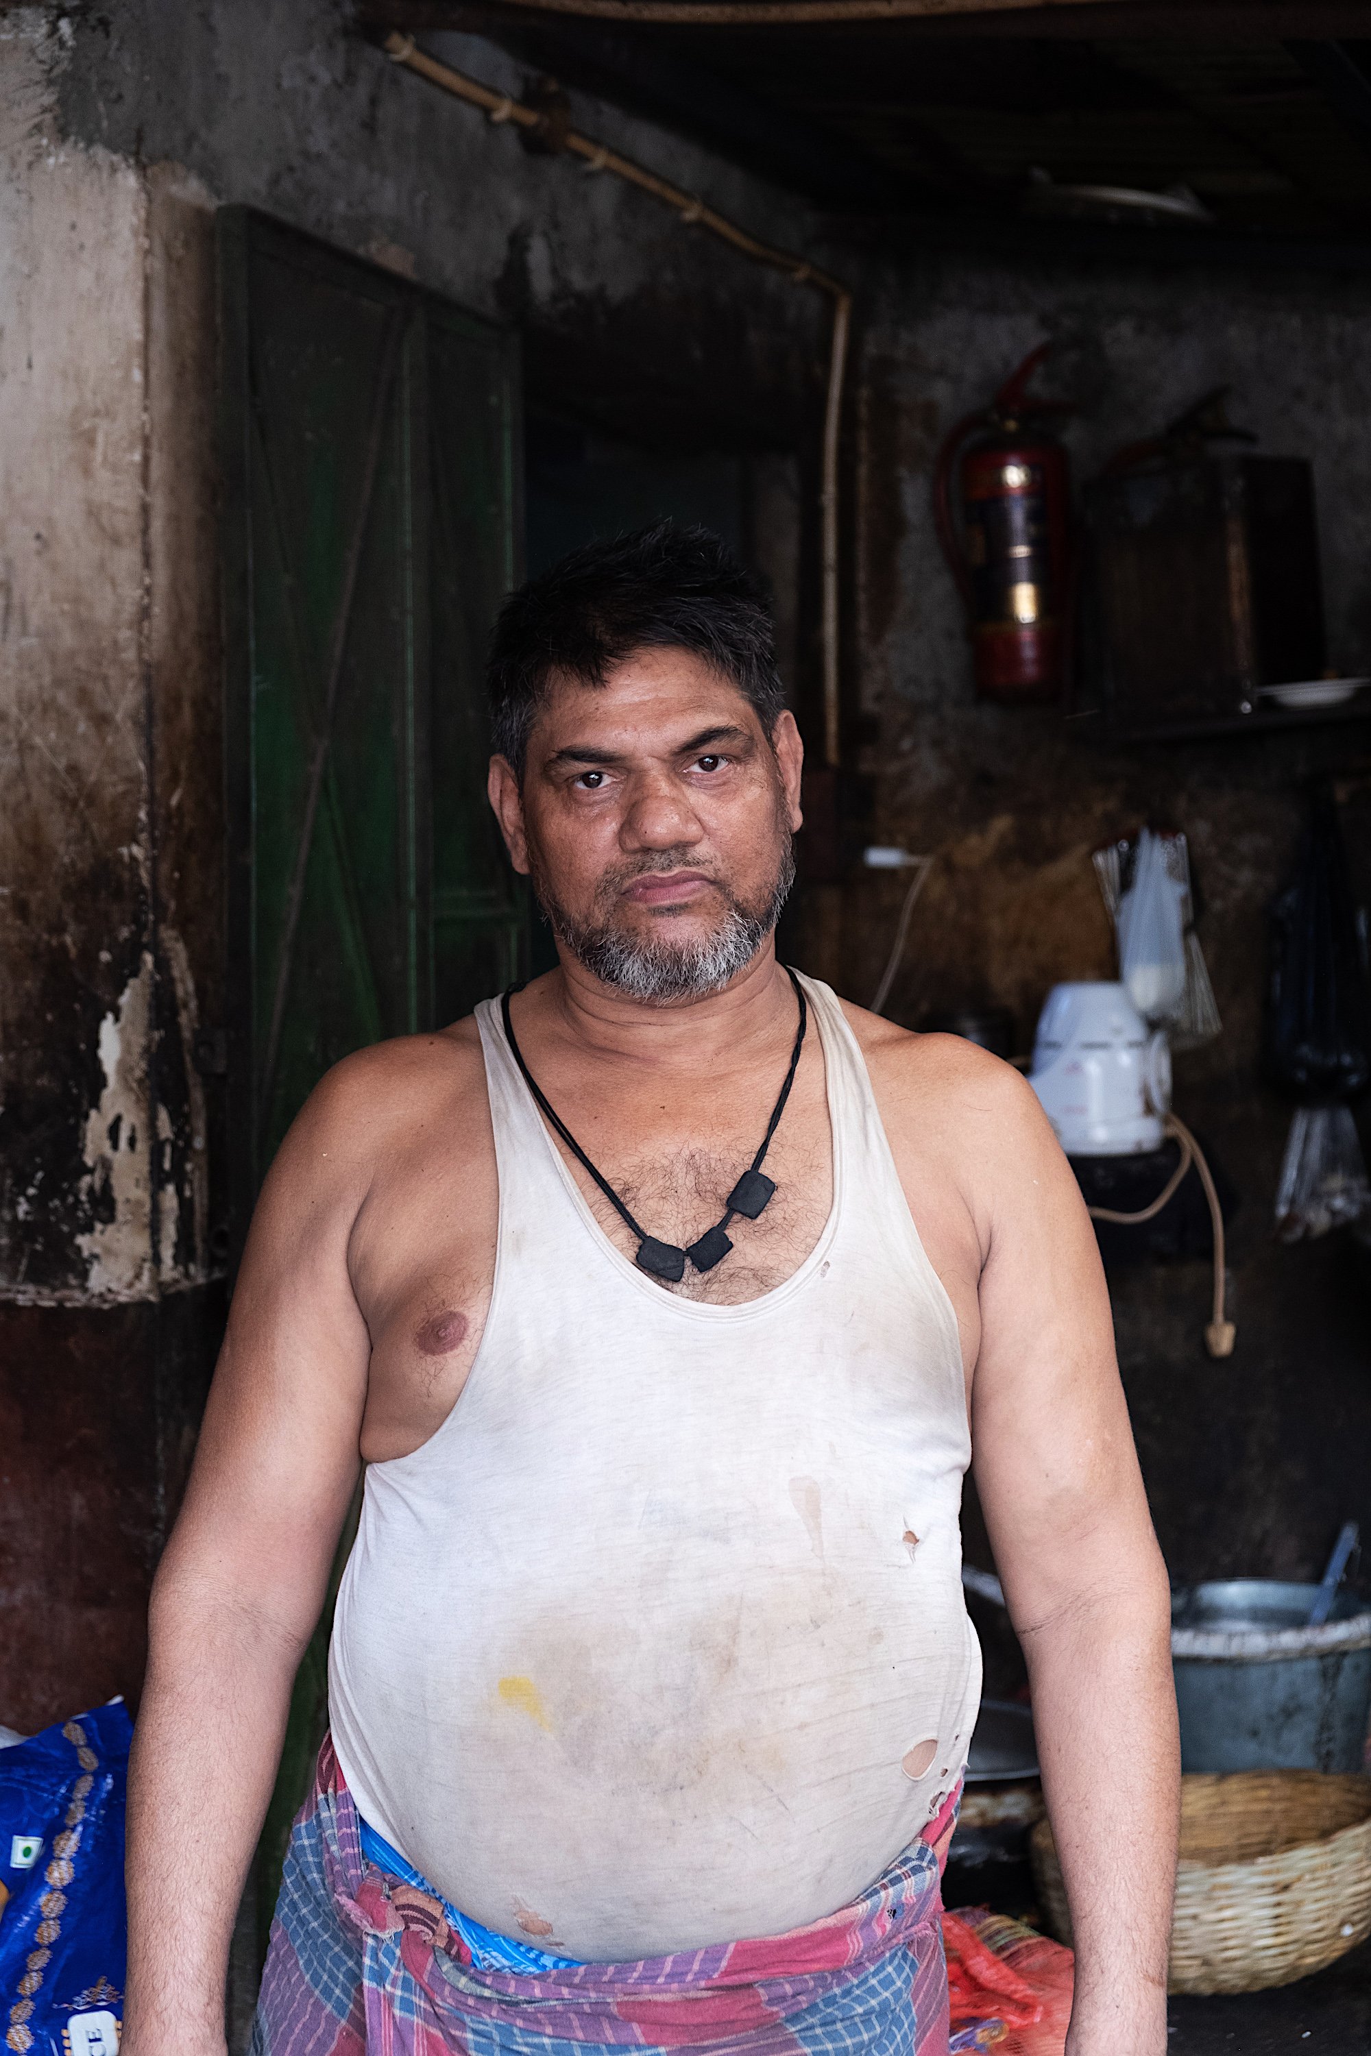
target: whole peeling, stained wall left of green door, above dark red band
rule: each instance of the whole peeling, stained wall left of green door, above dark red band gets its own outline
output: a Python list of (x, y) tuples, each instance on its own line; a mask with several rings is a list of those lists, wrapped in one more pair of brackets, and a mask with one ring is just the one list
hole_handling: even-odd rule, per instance
[(187, 181), (60, 136), (64, 51), (0, 31), (0, 1297), (88, 1306), (210, 1269), (214, 302)]

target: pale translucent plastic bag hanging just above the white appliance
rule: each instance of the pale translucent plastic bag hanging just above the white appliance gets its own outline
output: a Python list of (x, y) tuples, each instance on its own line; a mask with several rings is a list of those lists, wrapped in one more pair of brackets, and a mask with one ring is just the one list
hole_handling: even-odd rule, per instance
[(1100, 892), (1118, 931), (1118, 968), (1139, 1014), (1176, 1049), (1223, 1028), (1209, 966), (1194, 933), (1186, 837), (1143, 829), (1094, 855)]

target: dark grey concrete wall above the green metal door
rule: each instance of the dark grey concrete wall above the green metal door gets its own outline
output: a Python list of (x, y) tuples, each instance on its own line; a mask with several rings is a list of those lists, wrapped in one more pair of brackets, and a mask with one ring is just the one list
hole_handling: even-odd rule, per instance
[[(469, 35), (425, 49), (502, 93), (524, 72)], [(705, 150), (584, 95), (578, 127), (707, 193), (756, 234), (814, 249), (812, 214)], [(372, 255), (473, 313), (518, 319), (559, 380), (660, 432), (791, 434), (822, 356), (824, 302), (682, 230), (656, 199), (578, 162), (530, 156), (514, 127), (391, 64), (351, 33), (347, 0), (125, 0), (76, 16), (62, 84), (68, 134), (171, 160)], [(806, 417), (808, 419), (808, 417)]]

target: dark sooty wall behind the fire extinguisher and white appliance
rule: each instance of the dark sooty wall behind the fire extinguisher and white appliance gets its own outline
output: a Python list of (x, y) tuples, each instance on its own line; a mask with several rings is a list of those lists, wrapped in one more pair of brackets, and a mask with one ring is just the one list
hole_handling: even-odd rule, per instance
[[(1174, 1575), (1299, 1577), (1344, 1517), (1371, 1517), (1369, 1306), (1346, 1238), (1270, 1244), (1289, 1108), (1260, 1077), (1266, 907), (1293, 859), (1303, 783), (1371, 775), (1371, 732), (1106, 748), (1054, 711), (974, 701), (931, 465), (948, 426), (1048, 335), (1098, 352), (1096, 403), (1067, 430), (1077, 479), (1225, 380), (1233, 419), (1264, 450), (1313, 458), (1330, 660), (1367, 672), (1371, 284), (929, 263), (886, 282), (861, 395), (861, 687), (880, 718), (867, 755), (880, 839), (937, 853), (892, 1012), (917, 1022), (995, 1001), (1028, 1049), (1048, 985), (1114, 975), (1089, 851), (1143, 820), (1188, 833), (1225, 1032), (1178, 1057), (1176, 1102), (1242, 1192), (1239, 1338), (1229, 1363), (1207, 1359), (1207, 1266), (1143, 1266), (1112, 1279), (1120, 1359)], [(1367, 890), (1365, 798), (1344, 829)], [(898, 878), (867, 878), (847, 894), (857, 997), (876, 985), (900, 892)]]

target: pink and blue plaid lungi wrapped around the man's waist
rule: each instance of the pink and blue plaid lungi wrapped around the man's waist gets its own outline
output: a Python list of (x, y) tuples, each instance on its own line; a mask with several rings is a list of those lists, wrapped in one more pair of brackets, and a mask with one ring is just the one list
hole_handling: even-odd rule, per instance
[[(325, 1741), (296, 1820), (251, 2056), (948, 2056), (939, 1859), (956, 1803), (789, 1935), (639, 1963), (481, 1970), (436, 1898), (362, 1857)], [(958, 2037), (960, 2040), (960, 2037)]]

